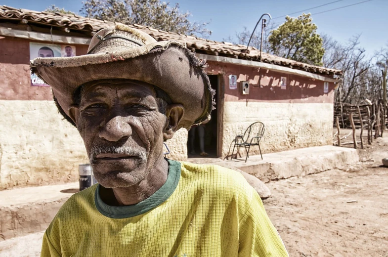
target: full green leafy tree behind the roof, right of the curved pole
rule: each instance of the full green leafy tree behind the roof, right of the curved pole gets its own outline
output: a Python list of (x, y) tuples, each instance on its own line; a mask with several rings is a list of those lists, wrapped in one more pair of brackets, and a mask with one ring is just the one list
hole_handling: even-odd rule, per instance
[(271, 31), (268, 38), (271, 52), (288, 59), (322, 65), (323, 40), (316, 33), (317, 26), (310, 16), (309, 13), (298, 18), (287, 16), (286, 22)]

